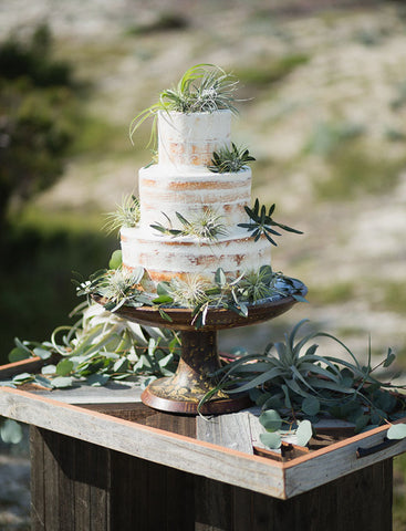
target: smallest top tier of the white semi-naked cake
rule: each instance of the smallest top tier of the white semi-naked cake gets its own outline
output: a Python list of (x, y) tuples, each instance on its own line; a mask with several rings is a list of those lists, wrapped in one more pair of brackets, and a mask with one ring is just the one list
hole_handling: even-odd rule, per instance
[(231, 140), (231, 112), (158, 113), (158, 164), (176, 167), (206, 167), (214, 152)]

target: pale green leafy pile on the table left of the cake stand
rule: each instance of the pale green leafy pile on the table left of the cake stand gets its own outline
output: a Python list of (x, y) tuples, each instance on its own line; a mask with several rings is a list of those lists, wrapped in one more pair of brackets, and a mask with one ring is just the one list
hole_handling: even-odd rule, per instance
[(9, 385), (34, 383), (53, 389), (85, 382), (100, 386), (175, 373), (180, 351), (176, 332), (133, 323), (86, 301), (72, 315), (80, 319), (73, 325), (58, 326), (49, 341), (15, 340), (10, 362), (39, 356), (44, 366), (41, 374), (19, 374)]

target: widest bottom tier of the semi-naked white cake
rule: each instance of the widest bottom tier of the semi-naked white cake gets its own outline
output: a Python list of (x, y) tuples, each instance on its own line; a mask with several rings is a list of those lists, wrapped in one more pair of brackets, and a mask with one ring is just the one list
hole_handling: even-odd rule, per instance
[(212, 282), (218, 268), (236, 278), (271, 263), (269, 241), (264, 237), (254, 241), (244, 229), (211, 242), (155, 236), (139, 228), (123, 228), (121, 238), (123, 266), (144, 267), (154, 285), (187, 274), (198, 274)]

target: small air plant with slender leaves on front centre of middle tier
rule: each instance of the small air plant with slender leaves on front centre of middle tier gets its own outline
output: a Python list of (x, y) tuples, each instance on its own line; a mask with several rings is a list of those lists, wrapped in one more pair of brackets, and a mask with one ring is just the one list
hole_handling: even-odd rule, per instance
[(150, 227), (159, 232), (173, 237), (186, 236), (197, 238), (198, 240), (216, 241), (221, 236), (227, 236), (227, 227), (222, 222), (223, 217), (214, 212), (210, 208), (205, 208), (199, 215), (197, 215), (190, 221), (187, 220), (181, 214), (175, 212), (176, 217), (181, 223), (181, 229), (174, 229), (170, 218), (163, 212), (168, 220), (169, 226), (156, 222)]

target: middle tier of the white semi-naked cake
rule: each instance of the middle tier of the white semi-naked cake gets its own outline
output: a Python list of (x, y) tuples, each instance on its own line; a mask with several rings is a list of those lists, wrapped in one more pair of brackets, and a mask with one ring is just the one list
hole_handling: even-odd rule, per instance
[(180, 228), (176, 212), (191, 221), (208, 208), (232, 229), (248, 219), (244, 206), (251, 202), (250, 168), (236, 174), (194, 168), (180, 173), (158, 164), (139, 170), (138, 186), (142, 228), (156, 222), (168, 225), (162, 212), (174, 228)]

